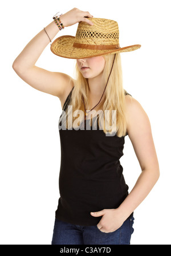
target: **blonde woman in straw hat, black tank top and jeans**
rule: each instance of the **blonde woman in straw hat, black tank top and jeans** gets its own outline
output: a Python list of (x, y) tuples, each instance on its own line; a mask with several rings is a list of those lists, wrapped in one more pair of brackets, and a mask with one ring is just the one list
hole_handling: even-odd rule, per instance
[[(60, 36), (51, 51), (76, 59), (76, 79), (35, 66), (64, 27), (78, 23), (76, 36)], [(159, 177), (150, 122), (141, 104), (123, 89), (117, 22), (72, 9), (54, 17), (14, 60), (15, 72), (35, 89), (59, 97), (60, 198), (52, 245), (129, 245), (133, 211)], [(141, 174), (128, 194), (120, 157), (129, 136)]]

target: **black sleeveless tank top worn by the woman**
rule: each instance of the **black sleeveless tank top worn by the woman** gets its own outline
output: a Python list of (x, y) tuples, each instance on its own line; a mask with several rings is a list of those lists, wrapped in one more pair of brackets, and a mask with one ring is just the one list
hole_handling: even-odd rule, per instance
[[(64, 111), (72, 90), (63, 105)], [(55, 217), (74, 225), (97, 225), (102, 216), (93, 217), (91, 212), (118, 208), (128, 196), (119, 160), (124, 155), (125, 137), (105, 136), (101, 129), (86, 128), (59, 129), (59, 135), (60, 198)]]

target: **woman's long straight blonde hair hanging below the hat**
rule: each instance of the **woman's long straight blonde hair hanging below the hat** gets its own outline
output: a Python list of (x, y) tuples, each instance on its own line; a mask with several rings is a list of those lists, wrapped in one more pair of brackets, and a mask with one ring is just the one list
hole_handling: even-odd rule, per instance
[[(104, 84), (107, 83), (109, 74), (111, 72), (113, 58), (115, 54), (108, 54), (103, 55), (105, 59), (105, 67), (103, 70), (103, 80)], [(79, 71), (79, 68), (75, 66), (75, 84), (74, 89), (72, 91), (71, 99), (68, 105), (71, 105), (72, 108), (67, 109), (66, 111), (66, 128), (70, 129), (71, 125), (73, 128), (78, 127), (80, 122), (84, 122), (84, 116), (80, 115), (80, 110), (85, 112), (84, 103), (85, 105), (89, 105), (89, 87), (88, 87), (88, 79), (84, 78), (82, 73)], [(123, 74), (122, 74), (122, 67), (121, 67), (121, 56), (120, 53), (116, 54), (115, 62), (113, 65), (113, 69), (108, 80), (107, 87), (105, 88), (104, 92), (104, 100), (100, 101), (100, 104), (97, 105), (96, 109), (96, 117), (97, 114), (99, 118), (96, 118), (98, 121), (99, 127), (101, 127), (105, 134), (108, 136), (113, 136), (113, 134), (117, 135), (118, 137), (125, 136), (127, 133), (127, 120), (125, 117), (125, 90), (123, 88)], [(84, 97), (84, 103), (83, 103)], [(100, 99), (99, 99), (100, 100)], [(99, 110), (100, 114), (99, 114)], [(107, 115), (106, 115), (106, 111)], [(111, 111), (115, 110), (115, 122), (111, 125)], [(68, 116), (72, 115), (72, 113), (77, 113), (76, 115), (72, 116), (73, 121), (68, 122)], [(93, 116), (93, 111), (91, 111), (91, 117)], [(105, 113), (105, 115), (104, 115)], [(78, 118), (79, 114), (79, 123), (75, 121)], [(112, 120), (114, 120), (112, 117)], [(91, 118), (91, 126), (92, 126), (92, 118)], [(100, 128), (100, 129), (101, 129)]]

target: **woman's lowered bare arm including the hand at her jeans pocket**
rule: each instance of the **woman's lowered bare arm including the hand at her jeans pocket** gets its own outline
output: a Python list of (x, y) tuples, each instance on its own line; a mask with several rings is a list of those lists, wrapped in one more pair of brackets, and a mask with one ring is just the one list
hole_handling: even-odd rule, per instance
[(132, 191), (119, 208), (103, 209), (100, 212), (91, 213), (93, 217), (103, 216), (97, 227), (107, 233), (119, 229), (149, 194), (160, 176), (149, 118), (139, 101), (129, 95), (125, 98), (127, 132), (139, 160), (141, 174)]

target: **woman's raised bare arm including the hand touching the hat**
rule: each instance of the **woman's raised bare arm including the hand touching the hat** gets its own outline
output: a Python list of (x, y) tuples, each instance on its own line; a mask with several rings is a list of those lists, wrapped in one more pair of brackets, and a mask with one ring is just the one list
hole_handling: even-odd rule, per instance
[[(80, 21), (92, 25), (92, 22), (84, 17), (92, 17), (92, 15), (87, 11), (80, 11), (74, 8), (66, 14), (61, 15), (60, 19), (64, 27), (72, 26)], [(54, 21), (47, 25), (45, 29), (51, 40), (60, 31)], [(67, 88), (69, 88), (69, 91), (71, 90), (73, 79), (67, 74), (51, 72), (35, 66), (44, 48), (50, 43), (47, 34), (43, 29), (32, 38), (22, 50), (21, 54), (14, 60), (13, 69), (20, 78), (36, 90), (62, 98)]]

